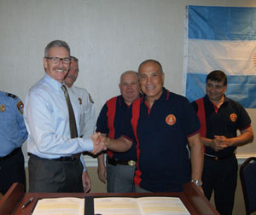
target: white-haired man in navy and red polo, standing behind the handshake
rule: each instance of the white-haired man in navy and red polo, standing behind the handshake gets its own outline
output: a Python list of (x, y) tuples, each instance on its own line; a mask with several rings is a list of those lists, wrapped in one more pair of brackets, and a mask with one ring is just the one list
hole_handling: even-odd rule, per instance
[[(124, 115), (131, 103), (139, 98), (140, 86), (137, 72), (126, 71), (120, 77), (119, 89), (121, 95), (108, 100), (97, 119), (96, 131), (105, 133), (109, 138), (120, 137), (120, 127)], [(131, 193), (135, 191), (133, 177), (137, 161), (136, 143), (125, 153), (107, 152), (107, 170), (104, 164), (104, 154), (98, 156), (98, 177), (106, 183), (108, 193)]]

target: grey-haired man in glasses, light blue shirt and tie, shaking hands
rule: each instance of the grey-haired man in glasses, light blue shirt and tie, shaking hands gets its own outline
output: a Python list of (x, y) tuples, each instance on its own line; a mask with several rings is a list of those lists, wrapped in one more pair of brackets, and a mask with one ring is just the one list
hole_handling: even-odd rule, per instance
[(70, 49), (55, 40), (44, 49), (44, 78), (33, 85), (25, 100), (28, 132), (29, 192), (83, 192), (83, 152), (105, 149), (99, 133), (81, 138), (81, 109), (68, 94), (64, 78), (70, 67)]

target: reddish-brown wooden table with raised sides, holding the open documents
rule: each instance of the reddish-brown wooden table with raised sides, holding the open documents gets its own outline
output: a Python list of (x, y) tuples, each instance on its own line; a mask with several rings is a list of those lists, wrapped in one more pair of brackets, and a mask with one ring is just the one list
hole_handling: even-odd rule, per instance
[[(0, 200), (0, 215), (15, 214), (15, 215), (29, 215), (32, 212), (38, 199), (42, 198), (56, 198), (56, 197), (79, 197), (85, 198), (85, 215), (94, 215), (93, 199), (96, 197), (143, 197), (143, 196), (172, 196), (179, 197), (183, 204), (187, 207), (191, 214), (196, 215), (212, 215), (218, 214), (216, 209), (211, 205), (207, 198), (201, 195), (199, 189), (194, 183), (186, 183), (183, 185), (183, 192), (180, 193), (129, 193), (129, 194), (108, 194), (108, 193), (25, 193), (23, 191), (23, 184), (14, 183), (9, 191), (3, 195)], [(32, 203), (26, 206), (23, 210), (21, 206), (34, 197)]]

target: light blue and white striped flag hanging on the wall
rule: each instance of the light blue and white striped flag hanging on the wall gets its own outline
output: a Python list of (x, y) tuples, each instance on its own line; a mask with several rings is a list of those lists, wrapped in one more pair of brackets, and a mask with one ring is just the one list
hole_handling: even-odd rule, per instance
[(228, 76), (227, 96), (256, 108), (256, 8), (187, 7), (183, 92), (190, 102), (205, 95), (212, 70)]

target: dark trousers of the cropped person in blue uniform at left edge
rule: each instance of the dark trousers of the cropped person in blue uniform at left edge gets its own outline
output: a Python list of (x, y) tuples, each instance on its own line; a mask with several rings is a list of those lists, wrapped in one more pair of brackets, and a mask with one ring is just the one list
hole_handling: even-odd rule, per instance
[(11, 157), (0, 160), (0, 193), (4, 195), (13, 183), (23, 183), (26, 192), (26, 173), (21, 148)]

